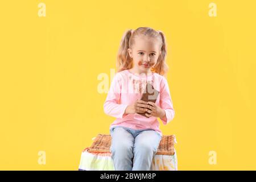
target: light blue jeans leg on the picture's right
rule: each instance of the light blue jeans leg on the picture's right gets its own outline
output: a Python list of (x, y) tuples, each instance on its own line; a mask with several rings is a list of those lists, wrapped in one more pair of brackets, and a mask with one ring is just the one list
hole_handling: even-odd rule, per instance
[(151, 170), (152, 159), (161, 139), (161, 135), (154, 130), (142, 131), (135, 137), (133, 171)]

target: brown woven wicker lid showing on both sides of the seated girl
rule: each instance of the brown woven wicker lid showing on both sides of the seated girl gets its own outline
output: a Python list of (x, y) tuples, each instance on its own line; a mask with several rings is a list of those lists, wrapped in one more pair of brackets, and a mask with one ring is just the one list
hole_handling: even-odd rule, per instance
[[(88, 148), (90, 153), (111, 153), (111, 135), (98, 134), (92, 145)], [(163, 135), (156, 155), (174, 155), (175, 135)]]

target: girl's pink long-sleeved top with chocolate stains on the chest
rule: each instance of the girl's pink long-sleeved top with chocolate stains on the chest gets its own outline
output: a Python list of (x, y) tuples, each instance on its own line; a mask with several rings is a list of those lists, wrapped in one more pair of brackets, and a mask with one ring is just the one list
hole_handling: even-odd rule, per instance
[(135, 130), (153, 129), (162, 136), (156, 117), (147, 118), (137, 113), (124, 114), (128, 105), (133, 104), (137, 99), (140, 100), (147, 82), (150, 82), (159, 91), (155, 104), (166, 112), (167, 120), (160, 118), (163, 124), (167, 125), (174, 119), (175, 111), (166, 78), (158, 73), (136, 75), (126, 69), (115, 74), (104, 102), (104, 112), (116, 118), (110, 127), (124, 126)]

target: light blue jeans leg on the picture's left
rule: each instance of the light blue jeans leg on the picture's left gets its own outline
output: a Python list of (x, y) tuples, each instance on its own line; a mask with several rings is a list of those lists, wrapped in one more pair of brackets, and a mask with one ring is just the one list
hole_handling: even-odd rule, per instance
[(110, 151), (114, 161), (115, 171), (131, 171), (133, 168), (133, 135), (122, 127), (110, 130), (112, 144)]

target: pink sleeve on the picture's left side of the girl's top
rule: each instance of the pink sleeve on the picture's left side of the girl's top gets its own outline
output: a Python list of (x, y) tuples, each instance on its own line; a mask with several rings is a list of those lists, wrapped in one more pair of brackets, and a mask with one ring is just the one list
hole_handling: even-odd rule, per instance
[(125, 109), (128, 106), (126, 104), (119, 104), (121, 89), (121, 80), (118, 79), (118, 75), (116, 74), (113, 77), (108, 96), (104, 103), (104, 112), (115, 118), (124, 118), (126, 115), (124, 114)]

